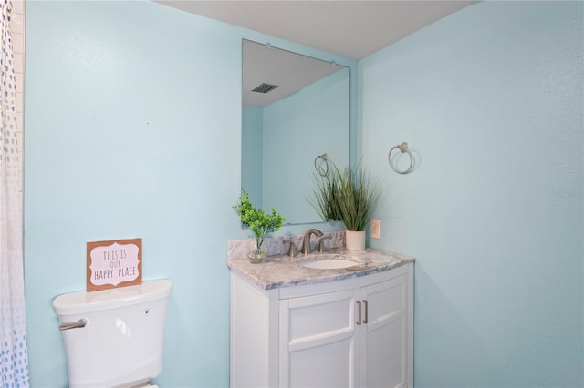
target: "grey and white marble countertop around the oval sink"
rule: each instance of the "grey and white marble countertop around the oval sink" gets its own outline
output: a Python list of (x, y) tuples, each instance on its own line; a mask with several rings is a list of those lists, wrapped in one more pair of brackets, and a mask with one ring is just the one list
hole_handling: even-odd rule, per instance
[(349, 268), (320, 270), (302, 267), (297, 264), (299, 260), (310, 260), (322, 253), (313, 253), (304, 256), (299, 254), (295, 258), (289, 256), (272, 256), (261, 264), (252, 264), (249, 260), (228, 260), (227, 266), (248, 280), (254, 282), (264, 290), (281, 287), (289, 287), (300, 284), (314, 284), (326, 281), (339, 281), (349, 278), (357, 278), (371, 273), (388, 271), (413, 262), (412, 256), (400, 253), (392, 253), (384, 250), (347, 250), (337, 248), (329, 250), (325, 255), (341, 255), (354, 260), (358, 264)]

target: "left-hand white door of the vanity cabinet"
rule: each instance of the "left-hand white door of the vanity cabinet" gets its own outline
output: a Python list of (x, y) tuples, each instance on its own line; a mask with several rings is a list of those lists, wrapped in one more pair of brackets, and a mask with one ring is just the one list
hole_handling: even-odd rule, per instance
[(359, 386), (359, 289), (280, 301), (280, 387)]

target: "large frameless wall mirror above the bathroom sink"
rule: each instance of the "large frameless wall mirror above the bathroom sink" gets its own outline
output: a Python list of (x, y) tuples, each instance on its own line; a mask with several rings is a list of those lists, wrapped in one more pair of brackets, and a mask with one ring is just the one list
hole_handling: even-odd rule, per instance
[(242, 188), (287, 224), (320, 222), (315, 158), (349, 165), (350, 70), (243, 40)]

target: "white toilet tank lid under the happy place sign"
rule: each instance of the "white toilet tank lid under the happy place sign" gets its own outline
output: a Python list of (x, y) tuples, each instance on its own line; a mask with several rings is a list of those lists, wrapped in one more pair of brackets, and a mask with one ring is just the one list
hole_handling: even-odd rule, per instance
[(110, 310), (121, 306), (167, 298), (171, 291), (172, 282), (168, 279), (160, 279), (110, 290), (70, 292), (59, 295), (53, 300), (53, 311), (57, 315), (69, 315)]

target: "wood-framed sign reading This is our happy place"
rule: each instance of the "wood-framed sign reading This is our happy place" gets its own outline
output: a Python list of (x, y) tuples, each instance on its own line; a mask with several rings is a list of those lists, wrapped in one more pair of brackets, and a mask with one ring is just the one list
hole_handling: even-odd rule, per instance
[(88, 291), (142, 282), (142, 239), (88, 242)]

